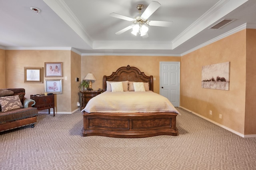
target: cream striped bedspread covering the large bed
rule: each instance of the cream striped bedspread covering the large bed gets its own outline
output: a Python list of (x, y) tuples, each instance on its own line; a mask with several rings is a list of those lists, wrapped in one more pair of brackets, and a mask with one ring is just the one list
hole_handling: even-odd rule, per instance
[(86, 111), (87, 113), (175, 112), (179, 114), (166, 97), (152, 91), (105, 91), (90, 99), (82, 111)]

